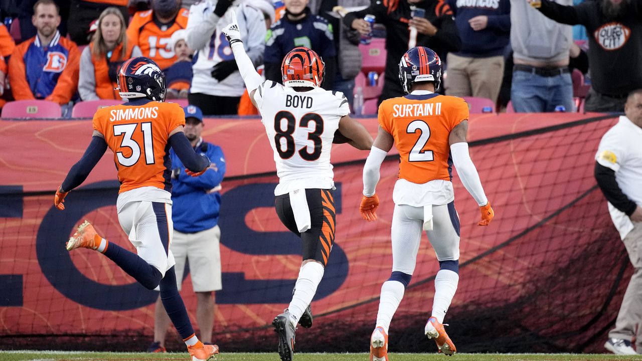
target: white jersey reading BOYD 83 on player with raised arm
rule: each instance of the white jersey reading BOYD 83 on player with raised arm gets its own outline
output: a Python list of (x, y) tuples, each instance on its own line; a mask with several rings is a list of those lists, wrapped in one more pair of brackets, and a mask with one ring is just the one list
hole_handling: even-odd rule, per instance
[(342, 92), (297, 92), (266, 80), (254, 92), (274, 151), (279, 185), (274, 195), (334, 187), (330, 150), (339, 120), (350, 113)]

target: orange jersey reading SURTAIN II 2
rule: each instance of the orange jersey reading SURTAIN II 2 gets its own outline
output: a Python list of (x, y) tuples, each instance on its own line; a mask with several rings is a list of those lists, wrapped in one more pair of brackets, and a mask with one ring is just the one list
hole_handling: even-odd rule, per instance
[(383, 101), (379, 125), (395, 139), (399, 178), (416, 184), (451, 180), (448, 137), (467, 119), (468, 104), (456, 96), (409, 94)]

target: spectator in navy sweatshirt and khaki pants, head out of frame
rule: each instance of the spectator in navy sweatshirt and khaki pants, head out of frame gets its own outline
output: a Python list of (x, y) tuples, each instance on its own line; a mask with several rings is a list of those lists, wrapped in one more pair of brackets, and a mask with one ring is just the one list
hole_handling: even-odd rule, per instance
[(510, 0), (447, 0), (462, 39), (448, 53), (446, 94), (497, 101), (510, 41)]

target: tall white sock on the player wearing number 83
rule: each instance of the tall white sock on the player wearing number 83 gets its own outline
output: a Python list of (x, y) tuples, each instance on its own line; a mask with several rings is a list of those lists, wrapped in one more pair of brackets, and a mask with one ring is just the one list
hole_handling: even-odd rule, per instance
[(324, 267), (317, 262), (308, 262), (299, 270), (292, 301), (288, 306), (290, 322), (296, 327), (303, 312), (317, 293), (317, 286), (323, 277)]

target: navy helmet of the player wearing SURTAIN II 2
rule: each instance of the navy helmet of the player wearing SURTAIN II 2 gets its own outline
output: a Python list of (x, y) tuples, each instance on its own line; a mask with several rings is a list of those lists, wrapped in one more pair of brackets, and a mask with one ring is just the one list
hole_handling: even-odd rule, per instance
[(416, 46), (403, 55), (399, 62), (399, 81), (406, 94), (415, 82), (434, 82), (435, 91), (441, 84), (441, 60), (435, 51)]

